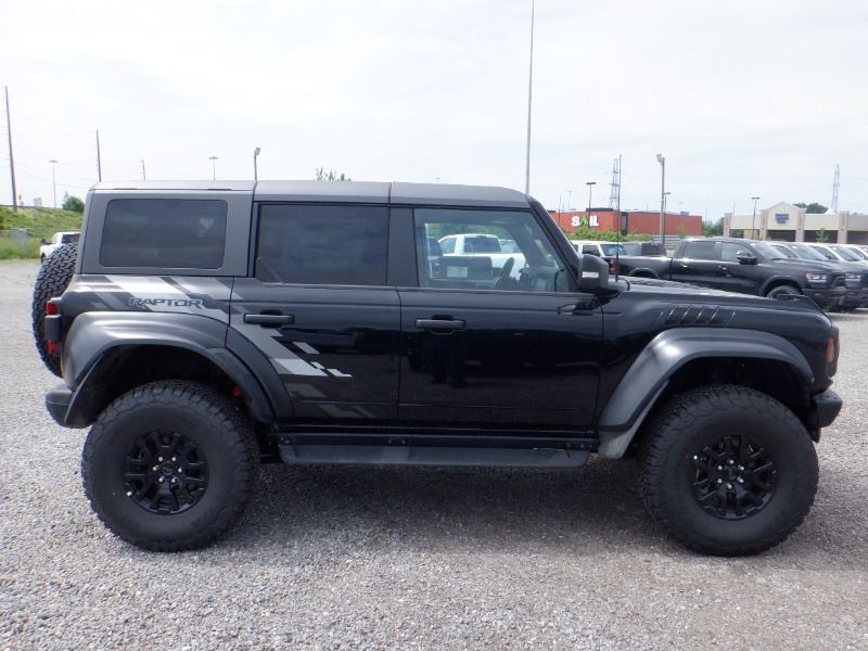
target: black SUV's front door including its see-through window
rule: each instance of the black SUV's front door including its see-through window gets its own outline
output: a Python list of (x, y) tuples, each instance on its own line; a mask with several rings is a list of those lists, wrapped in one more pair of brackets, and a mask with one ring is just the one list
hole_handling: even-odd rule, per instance
[[(403, 424), (572, 429), (591, 424), (602, 316), (575, 291), (529, 212), (414, 210), (419, 288), (401, 301)], [(432, 260), (427, 242), (497, 235), (520, 272), (495, 260)], [(498, 255), (498, 254), (489, 254)], [(437, 261), (436, 265), (432, 264)]]

